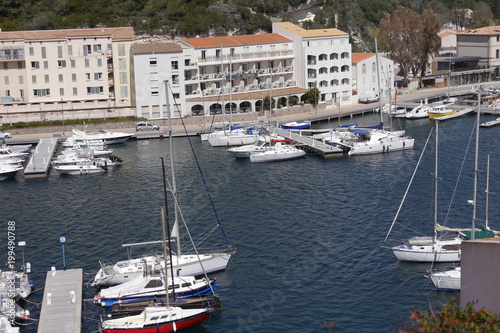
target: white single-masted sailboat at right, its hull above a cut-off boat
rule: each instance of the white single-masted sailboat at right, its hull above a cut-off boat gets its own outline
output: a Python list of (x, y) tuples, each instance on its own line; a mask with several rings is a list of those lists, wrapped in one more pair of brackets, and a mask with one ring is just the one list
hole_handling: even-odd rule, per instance
[[(392, 252), (400, 261), (417, 262), (456, 262), (460, 261), (460, 244), (462, 237), (460, 235), (452, 237), (437, 236), (437, 203), (438, 203), (438, 143), (439, 143), (439, 120), (436, 120), (436, 160), (434, 171), (434, 235), (424, 237), (413, 237), (404, 244), (391, 247)], [(424, 149), (425, 150), (425, 149)], [(417, 164), (418, 167), (418, 164)], [(404, 199), (403, 199), (404, 200)], [(402, 205), (402, 203), (401, 203)], [(400, 205), (400, 208), (401, 208)], [(399, 213), (399, 210), (398, 210)], [(397, 217), (397, 214), (396, 214)], [(394, 225), (394, 219), (392, 226)], [(392, 226), (387, 233), (386, 240), (392, 230)]]

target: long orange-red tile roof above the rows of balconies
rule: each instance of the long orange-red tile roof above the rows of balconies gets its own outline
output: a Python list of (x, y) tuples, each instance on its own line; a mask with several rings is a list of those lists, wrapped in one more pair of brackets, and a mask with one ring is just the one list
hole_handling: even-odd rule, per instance
[(258, 45), (258, 44), (273, 44), (287, 43), (290, 39), (283, 37), (280, 34), (260, 34), (260, 35), (242, 35), (242, 36), (222, 36), (222, 37), (207, 37), (207, 38), (188, 38), (181, 39), (182, 42), (194, 47), (212, 48), (212, 47), (227, 47), (241, 45)]

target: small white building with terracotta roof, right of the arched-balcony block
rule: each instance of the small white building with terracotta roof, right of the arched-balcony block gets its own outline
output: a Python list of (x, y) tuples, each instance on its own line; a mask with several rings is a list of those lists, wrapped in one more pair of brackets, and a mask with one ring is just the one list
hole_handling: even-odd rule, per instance
[[(352, 89), (353, 94), (379, 91), (383, 98), (394, 95), (394, 61), (379, 55), (380, 71), (377, 80), (377, 59), (375, 53), (352, 53)], [(397, 69), (396, 69), (397, 70)]]

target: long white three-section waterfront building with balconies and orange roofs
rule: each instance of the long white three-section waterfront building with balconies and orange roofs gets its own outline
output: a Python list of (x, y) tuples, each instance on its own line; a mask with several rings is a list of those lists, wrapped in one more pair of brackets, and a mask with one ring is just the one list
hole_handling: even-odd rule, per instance
[(166, 80), (173, 94), (170, 110), (177, 117), (260, 112), (266, 99), (272, 99), (275, 108), (291, 106), (314, 87), (321, 92), (320, 103), (351, 103), (351, 45), (346, 33), (308, 33), (291, 23), (275, 24), (273, 30), (134, 45), (133, 101), (138, 116), (166, 117)]

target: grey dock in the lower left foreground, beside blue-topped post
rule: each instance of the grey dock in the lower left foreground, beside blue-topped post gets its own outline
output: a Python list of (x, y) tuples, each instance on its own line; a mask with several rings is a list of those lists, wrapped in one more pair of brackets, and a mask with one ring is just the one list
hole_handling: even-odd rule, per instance
[(78, 333), (82, 326), (81, 268), (47, 272), (38, 333)]

